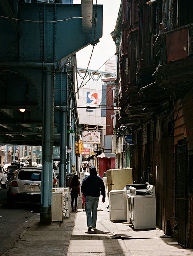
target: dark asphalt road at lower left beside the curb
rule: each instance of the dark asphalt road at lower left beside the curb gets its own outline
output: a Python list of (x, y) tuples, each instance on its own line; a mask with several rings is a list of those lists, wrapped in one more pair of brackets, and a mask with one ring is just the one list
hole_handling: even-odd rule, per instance
[(7, 204), (7, 190), (0, 190), (0, 255), (19, 240), (22, 231), (28, 227), (29, 222), (38, 218), (40, 211), (39, 204)]

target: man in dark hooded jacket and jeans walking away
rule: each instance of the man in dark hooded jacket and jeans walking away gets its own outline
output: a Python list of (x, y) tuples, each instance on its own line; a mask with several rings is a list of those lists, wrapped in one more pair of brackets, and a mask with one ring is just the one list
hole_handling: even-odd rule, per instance
[[(102, 202), (105, 202), (105, 185), (103, 179), (97, 175), (96, 167), (91, 166), (90, 175), (86, 176), (82, 181), (81, 191), (85, 196), (86, 202), (86, 220), (88, 231), (96, 229), (97, 208), (100, 195), (103, 196)], [(92, 212), (92, 216), (91, 216)]]

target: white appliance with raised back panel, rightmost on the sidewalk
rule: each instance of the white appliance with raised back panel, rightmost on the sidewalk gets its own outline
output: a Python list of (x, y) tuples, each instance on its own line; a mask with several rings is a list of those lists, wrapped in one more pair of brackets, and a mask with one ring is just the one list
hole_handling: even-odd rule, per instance
[(156, 229), (155, 186), (149, 184), (127, 185), (127, 222), (134, 229)]

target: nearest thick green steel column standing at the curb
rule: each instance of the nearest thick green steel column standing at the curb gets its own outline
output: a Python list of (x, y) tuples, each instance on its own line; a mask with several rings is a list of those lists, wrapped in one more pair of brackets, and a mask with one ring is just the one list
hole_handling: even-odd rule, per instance
[(52, 205), (52, 155), (53, 155), (53, 116), (54, 116), (54, 75), (46, 70), (43, 87), (43, 130), (42, 130), (42, 184), (40, 222), (51, 223)]

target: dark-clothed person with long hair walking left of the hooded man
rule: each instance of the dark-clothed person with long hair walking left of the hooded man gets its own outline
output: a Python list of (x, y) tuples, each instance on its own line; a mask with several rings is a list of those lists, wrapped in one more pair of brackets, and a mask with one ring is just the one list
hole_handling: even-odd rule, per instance
[[(74, 175), (72, 181), (70, 182), (70, 195), (71, 195), (71, 207), (72, 211), (77, 210), (77, 198), (80, 196), (80, 181), (79, 176)], [(74, 206), (75, 202), (75, 206)]]

